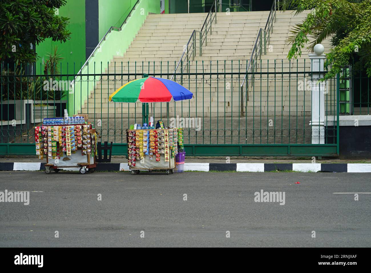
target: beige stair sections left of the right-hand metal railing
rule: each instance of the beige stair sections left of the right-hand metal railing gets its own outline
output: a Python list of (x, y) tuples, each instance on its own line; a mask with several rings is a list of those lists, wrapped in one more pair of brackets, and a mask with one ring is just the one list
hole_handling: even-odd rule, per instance
[[(229, 73), (230, 71), (241, 74), (246, 69), (246, 59), (250, 57), (255, 42), (257, 32), (260, 27), (264, 27), (266, 18), (269, 12), (236, 12), (217, 14), (217, 23), (212, 25), (212, 32), (207, 36), (207, 46), (204, 45), (202, 56), (199, 56), (199, 49), (196, 49), (196, 56), (194, 60), (190, 60), (189, 72), (219, 72)], [(121, 74), (136, 74), (137, 78), (141, 78), (143, 73), (154, 75), (156, 77), (171, 78), (174, 72), (176, 63), (183, 53), (184, 46), (187, 44), (191, 33), (194, 29), (201, 30), (207, 13), (191, 13), (191, 14), (150, 14), (147, 17), (144, 25), (132, 42), (130, 48), (124, 56), (114, 56), (108, 69), (105, 73), (116, 73), (116, 77), (103, 76), (98, 79), (95, 89), (91, 90), (88, 101), (82, 106), (82, 113), (88, 113), (94, 116), (93, 109), (95, 109), (95, 117), (114, 117), (118, 113), (123, 117), (128, 115), (134, 117), (134, 113), (128, 113), (128, 105), (124, 104), (121, 110), (119, 103), (107, 103), (109, 94), (115, 91), (128, 81), (128, 77), (121, 79)], [(197, 41), (197, 46), (199, 42)], [(224, 66), (224, 60), (226, 65)], [(217, 65), (218, 61), (218, 65)], [(128, 65), (129, 62), (129, 65)], [(136, 62), (136, 63), (135, 63)], [(149, 62), (149, 63), (148, 63)], [(161, 63), (162, 62), (162, 63)], [(210, 64), (211, 62), (211, 64)], [(196, 64), (197, 63), (197, 64)], [(243, 78), (243, 76), (241, 76)], [(131, 76), (130, 80), (135, 76)], [(225, 94), (224, 94), (224, 75), (219, 75), (219, 83), (216, 75), (212, 76), (210, 85), (210, 75), (205, 75), (204, 79), (201, 75), (191, 76), (190, 79), (186, 75), (183, 79), (177, 79), (177, 82), (183, 82), (183, 85), (195, 94), (193, 100), (183, 102), (187, 105), (187, 111), (183, 111), (184, 116), (196, 115), (196, 95), (197, 98), (197, 116), (211, 115), (215, 116), (218, 112), (217, 106), (223, 108), (226, 105), (227, 115), (238, 115), (238, 90), (239, 82), (238, 75), (234, 77), (233, 81), (230, 75), (226, 76)], [(240, 79), (240, 82), (242, 81)], [(219, 90), (219, 97), (223, 101), (217, 101), (217, 91)], [(222, 92), (220, 90), (223, 90)], [(237, 91), (237, 92), (236, 92)], [(225, 101), (224, 101), (225, 95)], [(202, 98), (203, 96), (203, 98)], [(211, 97), (211, 111), (210, 111), (210, 97)], [(95, 101), (95, 103), (94, 103)], [(202, 102), (203, 106), (202, 106)], [(101, 105), (102, 104), (102, 105)], [(174, 105), (175, 104), (175, 105)], [(179, 106), (178, 106), (179, 105)], [(206, 106), (208, 105), (208, 106)], [(155, 107), (155, 115), (166, 116), (166, 104), (156, 103), (152, 105)], [(131, 103), (129, 109), (138, 110), (138, 115), (141, 114), (141, 103)], [(116, 108), (116, 109), (115, 109)], [(181, 103), (171, 102), (169, 111), (172, 113), (178, 112), (181, 108)], [(219, 112), (221, 109), (219, 109)], [(187, 112), (187, 113), (186, 113)], [(224, 114), (224, 113), (223, 113)]]

